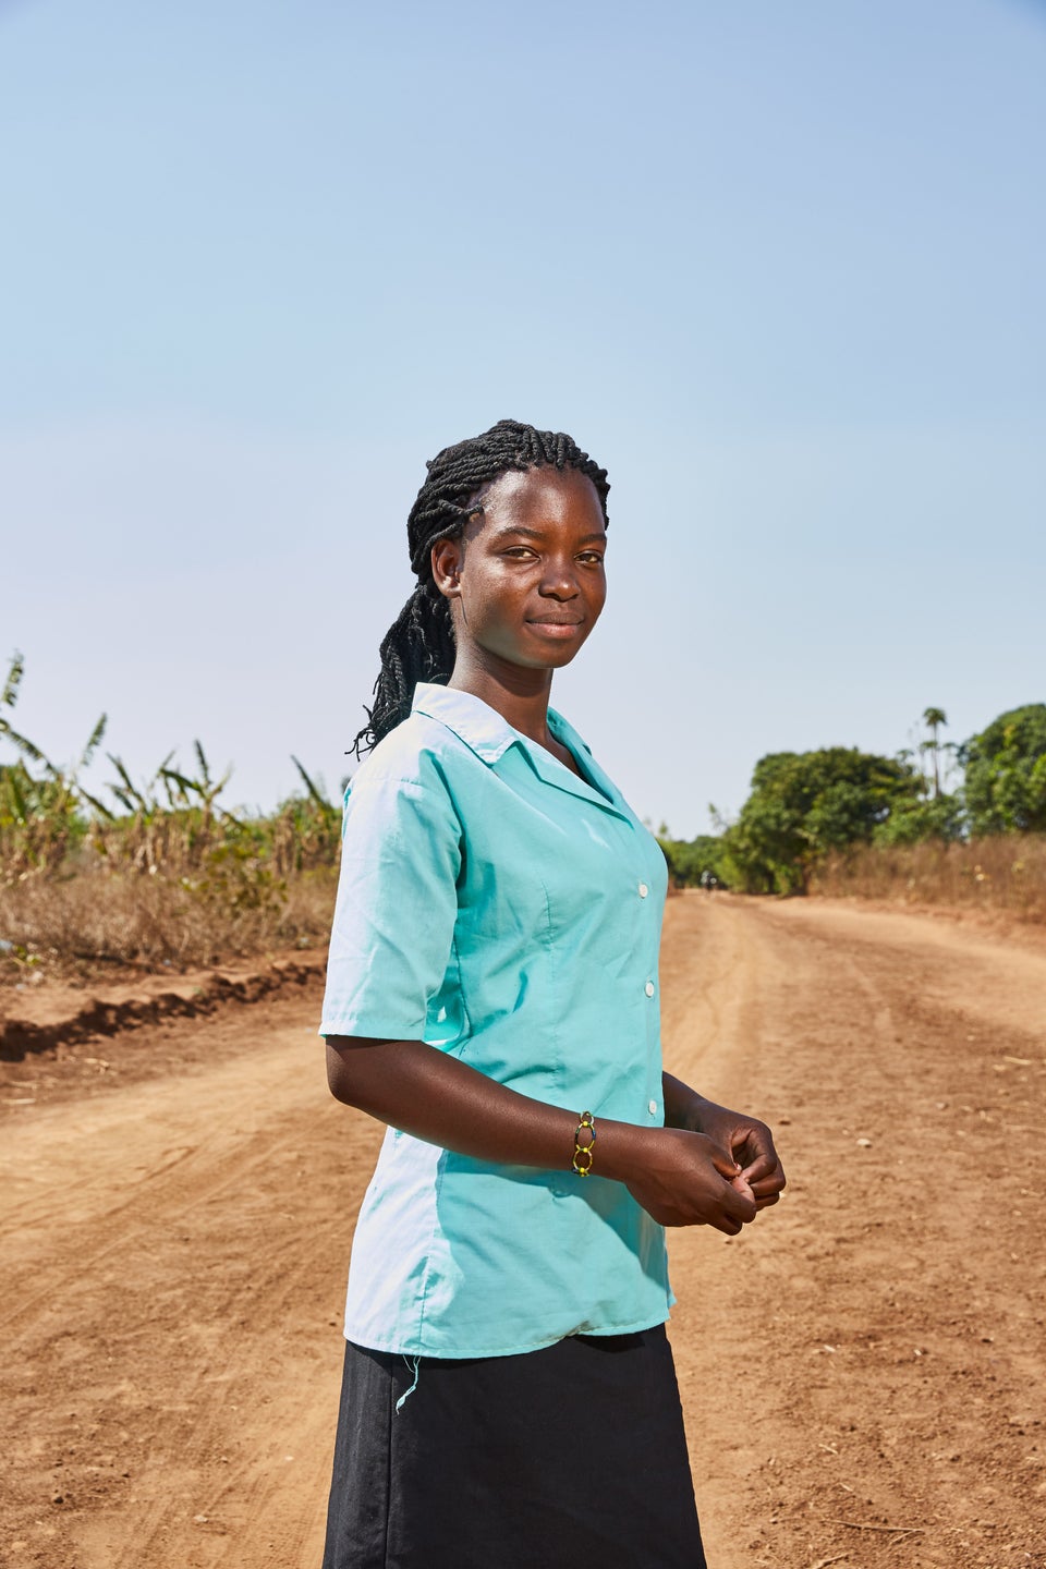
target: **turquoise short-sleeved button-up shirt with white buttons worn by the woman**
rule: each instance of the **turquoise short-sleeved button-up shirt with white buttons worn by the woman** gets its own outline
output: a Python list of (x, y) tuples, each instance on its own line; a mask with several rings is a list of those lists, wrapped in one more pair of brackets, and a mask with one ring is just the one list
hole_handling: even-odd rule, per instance
[[(657, 841), (549, 711), (577, 778), (464, 692), (420, 684), (345, 797), (321, 1034), (427, 1040), (524, 1095), (663, 1122)], [(345, 1335), (411, 1356), (533, 1351), (668, 1318), (665, 1233), (624, 1185), (390, 1128)]]

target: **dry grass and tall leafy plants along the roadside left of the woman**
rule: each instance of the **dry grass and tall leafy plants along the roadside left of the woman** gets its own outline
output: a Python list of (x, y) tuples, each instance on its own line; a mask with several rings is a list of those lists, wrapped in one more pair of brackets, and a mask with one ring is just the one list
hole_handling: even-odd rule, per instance
[[(16, 704), (24, 661), (0, 684)], [(198, 741), (193, 774), (171, 753), (136, 784), (119, 756), (105, 802), (80, 761), (53, 764), (0, 712), (14, 763), (0, 763), (0, 985), (99, 971), (190, 970), (326, 940), (340, 847), (340, 808), (295, 758), (304, 794), (268, 816), (221, 803)]]

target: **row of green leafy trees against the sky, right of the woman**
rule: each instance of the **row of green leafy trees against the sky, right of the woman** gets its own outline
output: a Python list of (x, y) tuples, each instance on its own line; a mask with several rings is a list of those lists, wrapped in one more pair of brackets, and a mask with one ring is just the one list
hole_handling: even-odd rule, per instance
[[(825, 857), (855, 846), (1046, 833), (1046, 703), (999, 714), (960, 745), (941, 742), (942, 709), (922, 719), (919, 747), (892, 758), (856, 747), (761, 758), (748, 800), (718, 835), (687, 843), (662, 828), (673, 879), (792, 894)], [(950, 774), (958, 781), (947, 789)]]

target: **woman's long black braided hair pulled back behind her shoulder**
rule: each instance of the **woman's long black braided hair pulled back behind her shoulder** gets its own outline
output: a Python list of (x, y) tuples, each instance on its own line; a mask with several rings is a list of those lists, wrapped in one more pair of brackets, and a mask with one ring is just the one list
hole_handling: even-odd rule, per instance
[(427, 463), (428, 479), (406, 519), (411, 568), (417, 587), (381, 640), (381, 672), (375, 681), (373, 708), (356, 736), (353, 752), (362, 756), (411, 712), (419, 681), (445, 686), (453, 672), (455, 642), (450, 604), (433, 577), (431, 552), (438, 540), (458, 540), (469, 518), (480, 511), (480, 491), (511, 469), (577, 469), (596, 486), (607, 519), (607, 471), (561, 431), (535, 430), (514, 419), (499, 419), (481, 436), (444, 447)]

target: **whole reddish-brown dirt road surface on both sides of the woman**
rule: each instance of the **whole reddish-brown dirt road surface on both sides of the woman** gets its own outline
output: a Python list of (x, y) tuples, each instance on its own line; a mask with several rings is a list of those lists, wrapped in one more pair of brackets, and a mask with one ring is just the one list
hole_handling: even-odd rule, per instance
[[(690, 894), (662, 990), (668, 1065), (765, 1116), (790, 1177), (740, 1238), (671, 1238), (712, 1569), (1043, 1569), (1046, 948)], [(315, 1018), (2, 1067), (5, 1566), (318, 1566), (380, 1131), (326, 1095)]]

